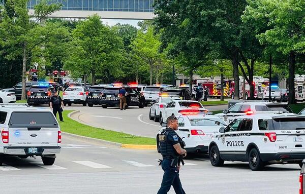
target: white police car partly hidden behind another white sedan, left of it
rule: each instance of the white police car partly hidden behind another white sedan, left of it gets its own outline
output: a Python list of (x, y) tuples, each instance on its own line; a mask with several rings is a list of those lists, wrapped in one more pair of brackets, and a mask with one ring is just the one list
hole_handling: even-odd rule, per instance
[(165, 108), (167, 104), (173, 100), (180, 100), (180, 98), (173, 96), (160, 96), (159, 98), (157, 98), (154, 104), (150, 106), (149, 119), (158, 122), (161, 109)]

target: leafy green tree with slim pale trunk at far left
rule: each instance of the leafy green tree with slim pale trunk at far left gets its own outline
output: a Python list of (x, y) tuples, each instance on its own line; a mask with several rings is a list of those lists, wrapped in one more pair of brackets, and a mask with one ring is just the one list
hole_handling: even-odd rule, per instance
[(0, 38), (9, 48), (7, 59), (15, 60), (22, 56), (21, 98), (25, 99), (26, 64), (31, 58), (41, 54), (43, 44), (49, 38), (40, 21), (59, 10), (61, 4), (48, 4), (46, 0), (42, 0), (35, 6), (33, 16), (28, 13), (27, 0), (8, 0), (5, 4), (7, 9), (2, 12)]

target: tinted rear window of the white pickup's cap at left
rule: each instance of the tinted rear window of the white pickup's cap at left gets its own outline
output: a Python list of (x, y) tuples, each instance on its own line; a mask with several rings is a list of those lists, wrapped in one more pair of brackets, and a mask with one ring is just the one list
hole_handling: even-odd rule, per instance
[(10, 127), (57, 127), (52, 112), (13, 112)]

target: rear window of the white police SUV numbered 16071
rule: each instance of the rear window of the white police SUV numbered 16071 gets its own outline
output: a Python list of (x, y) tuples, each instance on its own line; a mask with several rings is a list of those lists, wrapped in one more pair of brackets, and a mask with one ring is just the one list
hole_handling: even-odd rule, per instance
[(303, 130), (305, 129), (305, 117), (274, 118), (273, 130)]

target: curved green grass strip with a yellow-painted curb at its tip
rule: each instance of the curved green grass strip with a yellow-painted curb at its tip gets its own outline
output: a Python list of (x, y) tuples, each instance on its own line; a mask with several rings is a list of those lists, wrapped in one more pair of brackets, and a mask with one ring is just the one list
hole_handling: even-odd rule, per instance
[(156, 144), (156, 139), (154, 138), (140, 137), (126, 133), (120, 133), (120, 132), (104, 130), (100, 128), (83, 125), (68, 117), (68, 114), (72, 111), (73, 110), (65, 110), (63, 112), (64, 122), (59, 122), (60, 129), (63, 132), (73, 133), (76, 135), (81, 135), (86, 137), (93, 137), (97, 139), (103, 139), (112, 142), (125, 143), (125, 144), (143, 144), (143, 145)]

